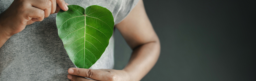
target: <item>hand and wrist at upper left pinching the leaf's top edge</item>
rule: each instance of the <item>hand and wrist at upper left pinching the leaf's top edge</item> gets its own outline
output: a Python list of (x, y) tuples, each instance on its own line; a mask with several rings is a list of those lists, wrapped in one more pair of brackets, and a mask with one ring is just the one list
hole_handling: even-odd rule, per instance
[(0, 48), (13, 35), (22, 31), (26, 25), (43, 21), (60, 9), (67, 11), (64, 0), (14, 0), (0, 14)]

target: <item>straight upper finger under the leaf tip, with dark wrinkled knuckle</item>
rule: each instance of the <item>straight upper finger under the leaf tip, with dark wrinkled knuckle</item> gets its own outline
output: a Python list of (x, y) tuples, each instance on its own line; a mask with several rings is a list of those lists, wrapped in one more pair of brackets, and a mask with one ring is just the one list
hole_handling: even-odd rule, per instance
[(100, 81), (109, 81), (114, 80), (116, 78), (116, 76), (110, 72), (83, 68), (69, 68), (68, 73)]

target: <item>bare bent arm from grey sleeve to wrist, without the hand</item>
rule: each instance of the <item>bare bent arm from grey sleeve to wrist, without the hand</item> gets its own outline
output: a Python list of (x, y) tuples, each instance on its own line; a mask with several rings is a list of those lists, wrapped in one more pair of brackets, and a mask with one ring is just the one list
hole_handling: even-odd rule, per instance
[(130, 61), (123, 70), (134, 78), (132, 80), (139, 81), (152, 69), (160, 55), (160, 41), (142, 0), (116, 28), (133, 49)]

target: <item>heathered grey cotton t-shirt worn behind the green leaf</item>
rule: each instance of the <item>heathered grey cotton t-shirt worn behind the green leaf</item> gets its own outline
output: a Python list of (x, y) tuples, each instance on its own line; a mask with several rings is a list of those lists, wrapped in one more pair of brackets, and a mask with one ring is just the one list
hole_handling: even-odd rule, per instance
[[(0, 0), (0, 13), (13, 0)], [(65, 0), (69, 5), (88, 7), (100, 5), (109, 9), (115, 24), (121, 22), (138, 0)], [(0, 81), (69, 81), (68, 68), (76, 67), (69, 59), (58, 37), (55, 17), (52, 14), (41, 22), (27, 25), (14, 34), (0, 48)], [(15, 23), (13, 23), (15, 24)], [(90, 69), (113, 69), (114, 36), (109, 40), (100, 59)]]

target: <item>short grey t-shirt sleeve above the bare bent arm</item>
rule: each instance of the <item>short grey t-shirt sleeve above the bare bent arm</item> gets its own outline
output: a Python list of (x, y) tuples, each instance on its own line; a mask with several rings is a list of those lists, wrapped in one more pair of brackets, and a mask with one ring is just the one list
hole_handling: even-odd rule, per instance
[(121, 8), (117, 11), (117, 14), (114, 18), (115, 24), (120, 23), (124, 18), (132, 11), (132, 9), (137, 5), (139, 0), (122, 0)]

